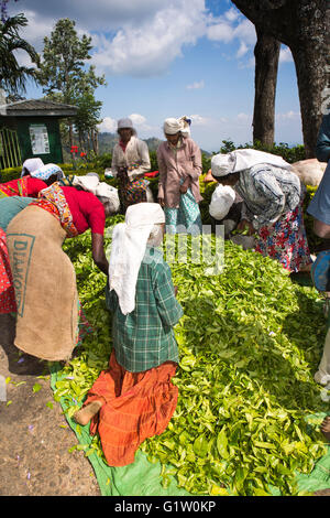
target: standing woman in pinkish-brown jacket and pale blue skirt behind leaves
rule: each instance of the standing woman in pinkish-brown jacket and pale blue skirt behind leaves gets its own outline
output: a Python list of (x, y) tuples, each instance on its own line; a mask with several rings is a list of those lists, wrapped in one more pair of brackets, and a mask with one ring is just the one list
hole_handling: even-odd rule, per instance
[(202, 197), (199, 176), (201, 153), (188, 134), (187, 118), (168, 118), (164, 122), (166, 141), (157, 149), (160, 170), (158, 203), (166, 215), (168, 234), (201, 233), (199, 202)]

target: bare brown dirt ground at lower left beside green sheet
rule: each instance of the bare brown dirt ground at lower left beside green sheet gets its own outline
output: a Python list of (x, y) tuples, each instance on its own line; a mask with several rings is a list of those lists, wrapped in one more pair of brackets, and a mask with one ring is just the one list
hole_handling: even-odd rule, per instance
[(13, 338), (14, 319), (0, 315), (0, 377), (10, 378), (6, 401), (0, 385), (0, 496), (100, 496), (84, 452), (68, 452), (77, 440), (53, 399), (47, 365), (19, 355)]

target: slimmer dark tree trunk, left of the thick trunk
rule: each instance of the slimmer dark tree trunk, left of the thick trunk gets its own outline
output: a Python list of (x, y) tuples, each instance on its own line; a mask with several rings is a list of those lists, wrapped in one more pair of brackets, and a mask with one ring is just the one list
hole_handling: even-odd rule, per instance
[(272, 147), (275, 140), (275, 97), (280, 43), (257, 25), (255, 31), (253, 142), (260, 141)]

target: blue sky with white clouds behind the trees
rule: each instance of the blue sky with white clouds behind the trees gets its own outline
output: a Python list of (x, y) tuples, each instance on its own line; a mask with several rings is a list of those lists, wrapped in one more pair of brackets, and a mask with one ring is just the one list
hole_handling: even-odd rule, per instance
[[(207, 151), (223, 139), (252, 139), (255, 31), (230, 0), (19, 0), (23, 36), (37, 51), (56, 21), (70, 18), (92, 36), (92, 63), (106, 74), (101, 131), (131, 116), (141, 138), (163, 138), (166, 117), (193, 118), (191, 137)], [(19, 58), (25, 63), (25, 56)], [(41, 97), (29, 85), (26, 97)], [(276, 142), (301, 143), (295, 66), (282, 47), (276, 96)]]

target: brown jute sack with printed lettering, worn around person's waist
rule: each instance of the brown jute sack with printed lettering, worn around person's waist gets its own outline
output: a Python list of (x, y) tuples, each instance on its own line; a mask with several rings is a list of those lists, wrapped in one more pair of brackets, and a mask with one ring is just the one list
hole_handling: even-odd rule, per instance
[(77, 342), (75, 269), (63, 251), (66, 231), (43, 208), (31, 205), (7, 229), (18, 305), (14, 344), (47, 360), (66, 360)]

